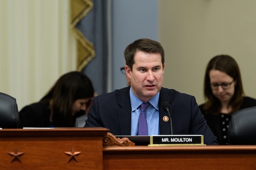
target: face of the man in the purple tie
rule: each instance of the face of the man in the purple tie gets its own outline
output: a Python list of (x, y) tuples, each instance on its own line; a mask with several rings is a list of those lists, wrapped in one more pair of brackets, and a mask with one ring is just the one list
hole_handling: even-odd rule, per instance
[(149, 101), (161, 89), (164, 65), (158, 53), (138, 51), (134, 56), (133, 71), (126, 65), (127, 76), (131, 79), (134, 94), (142, 101)]

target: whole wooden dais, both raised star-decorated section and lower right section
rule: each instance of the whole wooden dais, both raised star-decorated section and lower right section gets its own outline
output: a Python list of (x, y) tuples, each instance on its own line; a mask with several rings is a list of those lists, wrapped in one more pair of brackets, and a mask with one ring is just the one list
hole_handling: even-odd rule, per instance
[(108, 131), (0, 130), (0, 169), (256, 169), (256, 145), (116, 147)]

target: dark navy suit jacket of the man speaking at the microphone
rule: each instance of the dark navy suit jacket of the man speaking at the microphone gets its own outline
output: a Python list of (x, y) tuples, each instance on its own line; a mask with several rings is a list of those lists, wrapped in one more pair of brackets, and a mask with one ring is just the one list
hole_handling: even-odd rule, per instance
[[(99, 95), (93, 99), (85, 127), (105, 127), (114, 135), (131, 135), (130, 87)], [(205, 144), (218, 144), (206, 124), (194, 96), (162, 88), (159, 103), (167, 100), (173, 120), (173, 134), (202, 134)], [(164, 122), (168, 113), (159, 106), (160, 134), (170, 134), (170, 122)]]

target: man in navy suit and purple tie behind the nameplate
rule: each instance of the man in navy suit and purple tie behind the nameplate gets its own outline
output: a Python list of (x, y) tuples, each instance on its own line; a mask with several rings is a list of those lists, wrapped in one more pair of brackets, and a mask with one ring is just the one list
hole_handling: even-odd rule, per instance
[[(168, 113), (161, 107), (164, 100), (170, 104), (173, 134), (202, 134), (205, 144), (218, 144), (194, 96), (162, 87), (165, 63), (159, 42), (136, 40), (126, 47), (124, 57), (131, 86), (96, 96), (84, 127), (105, 127), (114, 135), (171, 134)], [(140, 114), (143, 108), (145, 114)]]

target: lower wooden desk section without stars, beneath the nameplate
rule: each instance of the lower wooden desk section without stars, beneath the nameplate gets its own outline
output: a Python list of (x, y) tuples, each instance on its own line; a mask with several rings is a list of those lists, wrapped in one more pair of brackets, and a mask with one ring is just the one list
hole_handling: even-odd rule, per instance
[(256, 169), (256, 145), (106, 147), (103, 169)]

